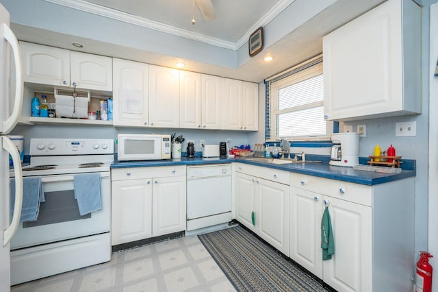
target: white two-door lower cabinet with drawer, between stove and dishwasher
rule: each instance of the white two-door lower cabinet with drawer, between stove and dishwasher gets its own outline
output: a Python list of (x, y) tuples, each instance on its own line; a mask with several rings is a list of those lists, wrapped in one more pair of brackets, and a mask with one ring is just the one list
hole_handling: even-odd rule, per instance
[(112, 169), (112, 245), (185, 230), (185, 166)]

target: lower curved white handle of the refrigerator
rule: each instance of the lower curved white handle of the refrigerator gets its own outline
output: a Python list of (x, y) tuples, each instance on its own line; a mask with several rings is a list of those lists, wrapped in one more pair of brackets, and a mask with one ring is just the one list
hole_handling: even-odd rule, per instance
[(12, 162), (14, 162), (14, 175), (15, 175), (15, 204), (14, 215), (12, 217), (11, 224), (3, 231), (3, 246), (8, 245), (12, 236), (18, 229), (21, 217), (21, 206), (23, 204), (23, 173), (21, 172), (21, 158), (18, 154), (16, 146), (6, 136), (1, 136), (3, 140), (3, 149), (11, 154)]

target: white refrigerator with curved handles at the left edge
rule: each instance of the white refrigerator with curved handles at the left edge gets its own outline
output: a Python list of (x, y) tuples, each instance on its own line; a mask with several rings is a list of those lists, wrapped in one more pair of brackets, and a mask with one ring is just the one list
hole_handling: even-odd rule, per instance
[[(20, 223), (23, 202), (21, 158), (8, 134), (18, 121), (23, 103), (23, 70), (18, 41), (10, 29), (10, 15), (0, 4), (0, 292), (10, 291), (10, 239)], [(9, 160), (15, 173), (14, 217), (10, 218)], [(17, 176), (18, 175), (18, 176)]]

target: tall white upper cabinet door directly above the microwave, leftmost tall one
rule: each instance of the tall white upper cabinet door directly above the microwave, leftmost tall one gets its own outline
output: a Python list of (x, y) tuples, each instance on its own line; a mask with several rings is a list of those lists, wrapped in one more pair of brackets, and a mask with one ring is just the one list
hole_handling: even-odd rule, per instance
[(114, 125), (149, 125), (149, 65), (113, 59)]

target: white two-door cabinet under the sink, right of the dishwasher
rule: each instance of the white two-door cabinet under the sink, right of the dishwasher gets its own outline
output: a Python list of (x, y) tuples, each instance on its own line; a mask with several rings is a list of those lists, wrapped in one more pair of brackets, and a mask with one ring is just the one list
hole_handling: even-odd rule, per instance
[[(237, 221), (288, 256), (288, 174), (287, 171), (266, 170), (264, 167), (237, 163), (235, 216)], [(286, 177), (287, 182), (284, 182), (282, 179)]]

